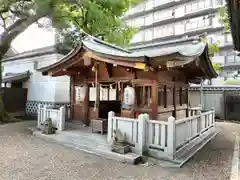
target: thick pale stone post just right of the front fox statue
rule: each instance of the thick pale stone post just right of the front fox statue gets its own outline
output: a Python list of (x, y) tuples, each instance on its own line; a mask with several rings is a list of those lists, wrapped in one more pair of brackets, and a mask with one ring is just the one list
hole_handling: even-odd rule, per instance
[(139, 129), (138, 129), (138, 152), (142, 155), (146, 149), (146, 126), (149, 120), (148, 114), (140, 114), (138, 116)]

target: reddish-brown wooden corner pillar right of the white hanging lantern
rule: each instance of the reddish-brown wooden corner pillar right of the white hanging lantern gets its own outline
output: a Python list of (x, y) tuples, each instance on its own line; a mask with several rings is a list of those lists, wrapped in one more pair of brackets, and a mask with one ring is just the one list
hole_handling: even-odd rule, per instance
[(158, 85), (157, 81), (152, 84), (152, 119), (158, 119)]

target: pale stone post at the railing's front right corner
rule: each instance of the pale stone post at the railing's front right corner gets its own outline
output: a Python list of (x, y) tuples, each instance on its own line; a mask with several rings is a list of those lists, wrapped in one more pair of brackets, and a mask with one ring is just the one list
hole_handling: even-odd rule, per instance
[(175, 118), (169, 117), (168, 118), (168, 134), (167, 134), (167, 154), (170, 159), (174, 159), (174, 154), (176, 151), (176, 127), (175, 127)]

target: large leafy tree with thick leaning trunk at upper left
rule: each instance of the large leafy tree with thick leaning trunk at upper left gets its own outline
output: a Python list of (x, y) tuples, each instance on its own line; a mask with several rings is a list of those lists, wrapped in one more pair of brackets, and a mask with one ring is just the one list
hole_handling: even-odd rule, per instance
[[(122, 23), (121, 16), (130, 6), (140, 1), (0, 0), (0, 66), (12, 41), (36, 22), (39, 26), (57, 28), (61, 37), (59, 42), (68, 42), (71, 46), (77, 43), (76, 39), (81, 37), (81, 31), (124, 46), (128, 44), (135, 30)], [(2, 72), (0, 83), (1, 79)], [(6, 115), (0, 97), (0, 121), (3, 121)]]

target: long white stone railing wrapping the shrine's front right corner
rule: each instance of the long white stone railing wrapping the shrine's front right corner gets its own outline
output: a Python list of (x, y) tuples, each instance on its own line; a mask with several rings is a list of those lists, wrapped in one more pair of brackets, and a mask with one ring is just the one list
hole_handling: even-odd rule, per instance
[(108, 114), (108, 142), (111, 142), (114, 129), (126, 135), (132, 151), (138, 154), (147, 152), (151, 156), (173, 160), (175, 155), (189, 143), (199, 143), (199, 137), (215, 131), (215, 111), (176, 120), (149, 120), (148, 114), (140, 114), (138, 119), (116, 117)]

